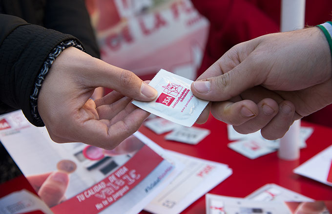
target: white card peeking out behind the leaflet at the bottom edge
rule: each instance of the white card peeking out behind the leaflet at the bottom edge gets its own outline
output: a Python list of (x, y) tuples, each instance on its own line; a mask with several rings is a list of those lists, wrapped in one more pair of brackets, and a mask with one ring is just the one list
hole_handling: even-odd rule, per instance
[(246, 199), (255, 201), (297, 201), (297, 202), (310, 202), (313, 199), (304, 196), (300, 193), (293, 192), (289, 189), (281, 187), (276, 184), (266, 184), (249, 194)]

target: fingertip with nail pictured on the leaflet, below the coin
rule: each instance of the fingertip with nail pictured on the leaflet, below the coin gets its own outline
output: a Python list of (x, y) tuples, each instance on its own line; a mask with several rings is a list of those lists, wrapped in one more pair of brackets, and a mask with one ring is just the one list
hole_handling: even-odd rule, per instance
[(61, 202), (68, 183), (69, 175), (67, 173), (55, 171), (42, 184), (38, 195), (49, 207), (53, 207)]

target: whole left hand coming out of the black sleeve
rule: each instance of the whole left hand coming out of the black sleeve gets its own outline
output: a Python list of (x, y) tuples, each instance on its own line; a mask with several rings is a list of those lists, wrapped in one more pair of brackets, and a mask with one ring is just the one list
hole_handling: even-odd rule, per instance
[[(89, 99), (95, 88), (114, 89)], [(68, 47), (56, 58), (42, 84), (38, 111), (52, 140), (114, 149), (149, 115), (131, 100), (151, 101), (157, 91), (134, 73)]]

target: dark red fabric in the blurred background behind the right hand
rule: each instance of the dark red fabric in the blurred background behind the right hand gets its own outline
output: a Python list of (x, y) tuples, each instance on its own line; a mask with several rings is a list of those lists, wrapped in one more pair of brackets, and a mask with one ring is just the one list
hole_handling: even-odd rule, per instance
[[(268, 33), (279, 32), (281, 0), (192, 0), (210, 21), (209, 37), (198, 76), (229, 48)], [(306, 0), (305, 24), (332, 20), (331, 0)], [(332, 127), (332, 106), (304, 120)]]

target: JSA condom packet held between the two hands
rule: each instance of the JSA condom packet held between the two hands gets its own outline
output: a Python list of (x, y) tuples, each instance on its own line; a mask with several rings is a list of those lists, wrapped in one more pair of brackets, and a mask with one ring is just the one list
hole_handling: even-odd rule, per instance
[(151, 102), (134, 100), (132, 103), (159, 117), (191, 127), (208, 104), (192, 94), (192, 82), (161, 69), (149, 83), (158, 91), (157, 97)]

